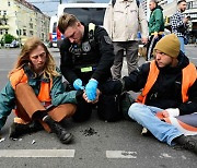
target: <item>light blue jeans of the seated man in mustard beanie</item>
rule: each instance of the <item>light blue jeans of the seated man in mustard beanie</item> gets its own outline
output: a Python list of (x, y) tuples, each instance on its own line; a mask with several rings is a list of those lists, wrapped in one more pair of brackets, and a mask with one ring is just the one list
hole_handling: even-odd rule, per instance
[(139, 124), (147, 128), (159, 141), (165, 142), (169, 145), (174, 145), (173, 140), (183, 135), (174, 125), (161, 121), (155, 117), (157, 112), (163, 109), (135, 103), (130, 106), (128, 115)]

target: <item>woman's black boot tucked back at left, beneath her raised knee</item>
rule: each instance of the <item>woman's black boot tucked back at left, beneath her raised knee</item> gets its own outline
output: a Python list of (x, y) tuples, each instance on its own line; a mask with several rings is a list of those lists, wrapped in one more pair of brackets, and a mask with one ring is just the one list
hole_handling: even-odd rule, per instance
[(33, 133), (43, 130), (42, 124), (38, 121), (32, 121), (27, 124), (21, 124), (13, 122), (10, 127), (9, 137), (19, 139), (23, 134)]

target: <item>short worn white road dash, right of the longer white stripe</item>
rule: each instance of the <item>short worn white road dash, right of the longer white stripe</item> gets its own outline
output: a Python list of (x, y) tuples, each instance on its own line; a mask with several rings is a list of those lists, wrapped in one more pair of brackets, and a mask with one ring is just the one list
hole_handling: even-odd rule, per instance
[(137, 152), (106, 151), (107, 158), (137, 158)]

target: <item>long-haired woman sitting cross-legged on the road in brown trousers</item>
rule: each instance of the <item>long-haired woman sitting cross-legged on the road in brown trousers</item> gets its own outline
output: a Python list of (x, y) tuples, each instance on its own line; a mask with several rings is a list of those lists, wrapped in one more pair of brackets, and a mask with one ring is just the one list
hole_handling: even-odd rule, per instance
[(46, 46), (37, 37), (24, 44), (9, 82), (0, 92), (0, 130), (14, 109), (9, 137), (36, 132), (43, 128), (68, 144), (73, 135), (59, 123), (77, 109), (77, 91), (65, 92), (62, 75)]

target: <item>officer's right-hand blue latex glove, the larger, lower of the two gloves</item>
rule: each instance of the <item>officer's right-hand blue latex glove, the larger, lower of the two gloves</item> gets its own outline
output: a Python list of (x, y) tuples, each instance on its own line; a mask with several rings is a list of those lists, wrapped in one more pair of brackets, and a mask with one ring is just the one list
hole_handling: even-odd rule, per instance
[(95, 100), (96, 98), (96, 88), (99, 82), (96, 80), (91, 79), (85, 86), (85, 94), (89, 100)]

